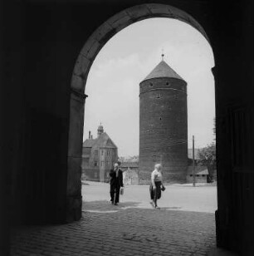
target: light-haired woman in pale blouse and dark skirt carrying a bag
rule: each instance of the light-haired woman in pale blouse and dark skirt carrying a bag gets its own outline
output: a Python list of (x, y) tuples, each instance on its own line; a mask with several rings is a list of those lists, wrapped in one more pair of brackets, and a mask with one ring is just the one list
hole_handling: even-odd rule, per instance
[(151, 185), (149, 190), (151, 198), (150, 204), (152, 204), (155, 209), (159, 209), (157, 200), (161, 198), (161, 191), (165, 190), (163, 184), (162, 165), (160, 164), (154, 165), (154, 170), (151, 174)]

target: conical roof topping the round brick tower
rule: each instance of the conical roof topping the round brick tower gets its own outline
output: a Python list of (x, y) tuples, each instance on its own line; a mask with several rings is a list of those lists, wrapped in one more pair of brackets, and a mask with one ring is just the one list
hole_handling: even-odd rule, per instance
[(154, 67), (154, 70), (151, 71), (143, 81), (156, 77), (172, 77), (183, 80), (183, 78), (179, 76), (176, 71), (173, 71), (173, 69), (164, 61), (159, 62), (159, 64)]

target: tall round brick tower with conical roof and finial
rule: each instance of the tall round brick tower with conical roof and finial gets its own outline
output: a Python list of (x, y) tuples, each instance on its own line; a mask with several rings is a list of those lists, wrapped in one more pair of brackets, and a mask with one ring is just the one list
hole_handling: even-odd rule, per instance
[(164, 182), (183, 183), (188, 166), (187, 83), (163, 59), (139, 87), (139, 183), (149, 184), (155, 163), (164, 167)]

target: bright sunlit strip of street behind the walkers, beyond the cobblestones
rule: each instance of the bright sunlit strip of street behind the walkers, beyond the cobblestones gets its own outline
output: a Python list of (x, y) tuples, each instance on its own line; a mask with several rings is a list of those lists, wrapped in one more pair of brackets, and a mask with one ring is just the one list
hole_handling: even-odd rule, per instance
[[(82, 189), (82, 196), (85, 203), (110, 200), (109, 184), (90, 181), (83, 182), (83, 184), (87, 184), (83, 185)], [(120, 202), (126, 205), (129, 202), (133, 202), (135, 207), (151, 209), (151, 205), (149, 204), (149, 186), (126, 185), (124, 195), (120, 195)], [(196, 187), (190, 184), (169, 185), (162, 192), (162, 198), (159, 199), (158, 205), (162, 209), (214, 214), (217, 209), (217, 188), (214, 185), (204, 184), (197, 184)], [(85, 207), (85, 204), (83, 204), (83, 207)]]

